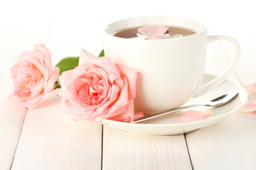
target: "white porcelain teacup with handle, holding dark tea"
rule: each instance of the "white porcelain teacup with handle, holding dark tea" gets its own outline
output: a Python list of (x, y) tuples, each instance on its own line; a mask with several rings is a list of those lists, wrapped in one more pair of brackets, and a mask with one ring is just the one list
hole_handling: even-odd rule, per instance
[[(151, 25), (175, 26), (196, 33), (180, 38), (136, 40), (114, 36), (119, 30)], [(235, 46), (235, 58), (223, 74), (201, 86), (208, 43), (228, 40)], [(226, 35), (207, 35), (200, 21), (174, 16), (145, 16), (110, 23), (104, 33), (105, 56), (114, 63), (136, 69), (135, 108), (146, 114), (183, 105), (221, 84), (234, 71), (240, 57), (238, 42)], [(217, 67), (217, 66), (215, 66)]]

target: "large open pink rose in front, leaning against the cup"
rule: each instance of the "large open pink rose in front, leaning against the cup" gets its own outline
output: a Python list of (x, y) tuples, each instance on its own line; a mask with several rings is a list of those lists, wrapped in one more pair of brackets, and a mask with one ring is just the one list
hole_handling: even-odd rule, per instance
[(138, 75), (133, 69), (113, 64), (108, 57), (82, 50), (78, 67), (60, 76), (63, 98), (58, 109), (75, 120), (132, 122)]

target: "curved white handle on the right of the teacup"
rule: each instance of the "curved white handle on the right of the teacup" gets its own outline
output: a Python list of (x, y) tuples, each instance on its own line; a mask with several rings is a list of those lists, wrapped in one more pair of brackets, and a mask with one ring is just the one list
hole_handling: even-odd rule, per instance
[(218, 77), (213, 79), (212, 81), (208, 82), (207, 84), (204, 84), (203, 86), (200, 86), (198, 91), (193, 97), (201, 96), (202, 94), (205, 94), (206, 92), (210, 91), (213, 89), (215, 86), (218, 86), (219, 84), (223, 83), (225, 79), (227, 79), (230, 74), (233, 73), (235, 67), (238, 64), (239, 58), (240, 58), (240, 46), (238, 42), (229, 36), (226, 35), (213, 35), (213, 36), (208, 36), (208, 43), (213, 42), (215, 40), (228, 40), (230, 41), (234, 47), (235, 47), (235, 58), (233, 62), (230, 64), (230, 66), (225, 69), (225, 71), (220, 74)]

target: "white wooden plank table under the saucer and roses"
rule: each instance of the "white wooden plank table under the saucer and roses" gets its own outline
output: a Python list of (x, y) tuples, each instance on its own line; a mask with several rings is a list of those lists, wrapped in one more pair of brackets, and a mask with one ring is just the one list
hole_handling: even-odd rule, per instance
[[(74, 122), (56, 110), (60, 98), (55, 94), (40, 109), (10, 101), (8, 95), (14, 90), (10, 68), (23, 50), (33, 50), (35, 42), (44, 43), (53, 53), (53, 64), (78, 56), (82, 48), (97, 55), (102, 30), (109, 22), (98, 20), (98, 27), (92, 29), (91, 17), (83, 21), (68, 15), (70, 11), (56, 13), (53, 8), (43, 15), (35, 8), (33, 12), (11, 15), (6, 10), (0, 16), (0, 169), (255, 169), (256, 114), (237, 111), (220, 123), (186, 134), (149, 136), (90, 121)], [(251, 44), (256, 35), (245, 31), (254, 36), (246, 39), (239, 33), (242, 59), (230, 79), (244, 86), (256, 81), (256, 51)], [(228, 66), (233, 49), (224, 42), (209, 48), (206, 72), (217, 75)]]

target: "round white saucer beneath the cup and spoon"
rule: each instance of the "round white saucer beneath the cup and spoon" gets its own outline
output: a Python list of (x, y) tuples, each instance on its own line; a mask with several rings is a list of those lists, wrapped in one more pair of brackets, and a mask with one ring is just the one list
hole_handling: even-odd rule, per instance
[[(206, 84), (211, 79), (214, 79), (215, 76), (210, 74), (204, 74), (203, 76), (203, 84)], [(192, 130), (196, 130), (199, 128), (206, 127), (208, 125), (212, 125), (213, 123), (217, 123), (223, 118), (227, 117), (231, 113), (238, 111), (238, 109), (245, 103), (247, 100), (247, 93), (242, 88), (242, 86), (235, 84), (235, 82), (226, 80), (223, 84), (216, 87), (215, 89), (209, 91), (198, 98), (193, 98), (191, 101), (209, 101), (213, 99), (215, 96), (220, 96), (221, 94), (225, 94), (227, 91), (238, 91), (239, 95), (230, 103), (225, 106), (220, 106), (218, 108), (209, 108), (209, 107), (196, 107), (190, 108), (189, 110), (196, 111), (212, 111), (213, 116), (206, 120), (199, 120), (190, 123), (174, 123), (174, 121), (181, 116), (182, 111), (173, 113), (171, 115), (165, 115), (163, 117), (154, 118), (151, 120), (146, 120), (142, 123), (123, 123), (114, 120), (102, 120), (102, 124), (108, 127), (116, 128), (118, 130), (122, 130), (125, 132), (132, 132), (143, 135), (175, 135), (184, 132), (190, 132)], [(189, 101), (188, 103), (191, 103)], [(186, 104), (188, 104), (186, 103)], [(185, 105), (186, 105), (185, 104)]]

